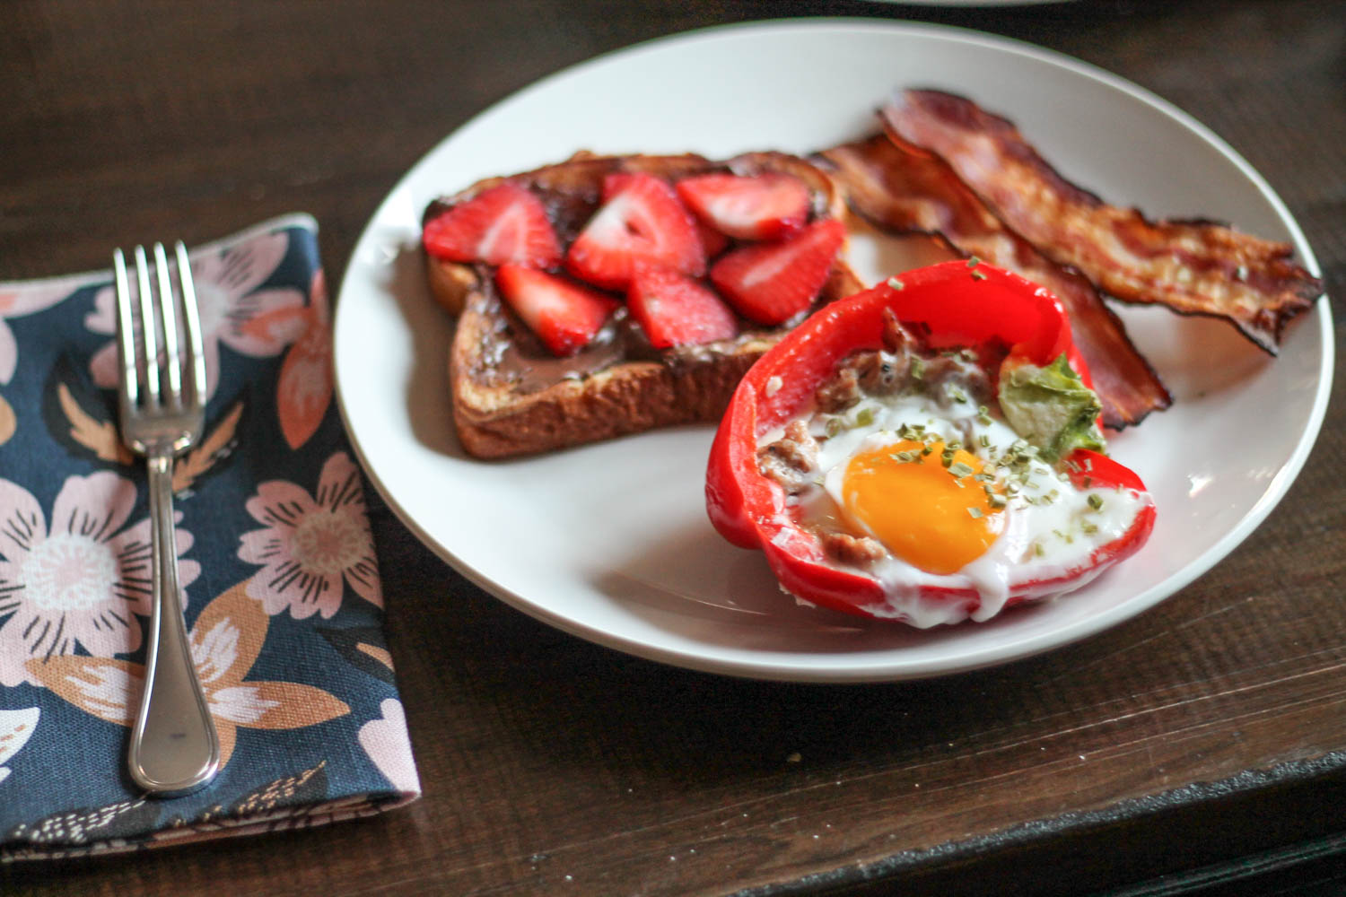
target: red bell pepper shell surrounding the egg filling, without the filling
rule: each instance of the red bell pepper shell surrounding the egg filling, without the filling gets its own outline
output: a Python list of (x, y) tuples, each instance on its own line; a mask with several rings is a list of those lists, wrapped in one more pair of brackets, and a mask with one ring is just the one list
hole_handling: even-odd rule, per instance
[[(818, 539), (800, 529), (785, 507), (781, 485), (758, 468), (758, 438), (806, 413), (817, 387), (852, 352), (879, 348), (884, 309), (905, 325), (927, 329), (931, 348), (1003, 340), (1012, 355), (1046, 366), (1065, 352), (1085, 385), (1089, 371), (1070, 338), (1070, 321), (1051, 293), (1023, 277), (976, 261), (950, 261), (913, 272), (816, 312), (758, 360), (739, 383), (716, 432), (707, 468), (707, 511), (730, 542), (760, 549), (785, 590), (833, 609), (876, 616), (879, 581), (828, 561)], [(1143, 492), (1140, 477), (1105, 455), (1075, 449), (1065, 469), (1079, 488)], [(898, 499), (900, 500), (900, 499)], [(1012, 584), (1007, 605), (1066, 592), (1140, 549), (1155, 522), (1145, 504), (1129, 529), (1096, 549), (1085, 566), (1051, 578)], [(922, 597), (961, 604), (970, 615), (981, 601), (973, 588), (921, 586)]]

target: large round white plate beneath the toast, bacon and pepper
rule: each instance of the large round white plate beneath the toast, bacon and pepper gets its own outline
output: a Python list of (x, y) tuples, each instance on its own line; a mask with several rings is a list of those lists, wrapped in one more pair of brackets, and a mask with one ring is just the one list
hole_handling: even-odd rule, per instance
[[(580, 148), (820, 149), (870, 132), (898, 86), (966, 94), (1011, 116), (1066, 176), (1113, 202), (1289, 239), (1316, 270), (1285, 207), (1229, 147), (1079, 62), (976, 32), (856, 19), (641, 44), (466, 124), (408, 172), (355, 247), (336, 305), (342, 413), (406, 526), (490, 593), (584, 639), (685, 667), (810, 682), (931, 676), (1055, 648), (1155, 605), (1233, 550), (1285, 494), (1322, 422), (1326, 301), (1289, 328), (1276, 360), (1224, 323), (1123, 309), (1176, 398), (1113, 441), (1154, 490), (1154, 538), (1085, 590), (983, 625), (917, 632), (797, 607), (758, 553), (731, 547), (707, 522), (709, 426), (506, 463), (459, 449), (444, 371), (450, 323), (431, 304), (417, 250), (433, 196)], [(444, 613), (454, 613), (450, 596)]]

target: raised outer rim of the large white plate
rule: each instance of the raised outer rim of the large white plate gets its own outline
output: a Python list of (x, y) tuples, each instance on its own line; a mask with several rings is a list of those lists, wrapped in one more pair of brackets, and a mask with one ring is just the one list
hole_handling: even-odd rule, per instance
[[(680, 668), (697, 670), (704, 672), (712, 672), (719, 675), (730, 675), (735, 678), (746, 679), (759, 679), (759, 680), (789, 680), (789, 682), (812, 682), (812, 683), (861, 683), (861, 682), (900, 682), (900, 680), (915, 680), (937, 678), (944, 675), (954, 675), (960, 672), (969, 672), (979, 668), (987, 668), (993, 666), (1001, 666), (1007, 663), (1014, 663), (1028, 656), (1043, 654), (1046, 651), (1057, 650), (1067, 644), (1074, 644), (1079, 640), (1092, 637), (1108, 628), (1119, 625), (1125, 620), (1129, 620), (1148, 609), (1152, 609), (1156, 604), (1163, 600), (1176, 594), (1193, 581), (1213, 569), (1219, 561), (1228, 557), (1240, 543), (1242, 543), (1253, 531), (1256, 531), (1271, 511), (1284, 499), (1285, 494), (1289, 491), (1291, 484), (1298, 479), (1308, 455), (1311, 453), (1323, 420), (1326, 417), (1326, 409), (1331, 393), (1331, 378), (1334, 370), (1334, 351), (1335, 343), (1333, 340), (1333, 323), (1330, 303), (1326, 292), (1323, 296), (1315, 301), (1311, 313), (1318, 317), (1318, 324), (1320, 328), (1320, 354), (1322, 363), (1318, 370), (1318, 383), (1314, 401), (1311, 403), (1308, 420), (1306, 426), (1295, 444), (1295, 449), (1291, 452), (1289, 457), (1280, 467), (1276, 476), (1267, 485), (1259, 499), (1253, 506), (1238, 519), (1236, 526), (1230, 527), (1228, 533), (1224, 534), (1214, 545), (1206, 549), (1199, 555), (1191, 558), (1179, 570), (1176, 570), (1170, 577), (1155, 584), (1149, 589), (1140, 592), (1132, 598), (1127, 600), (1120, 609), (1105, 609), (1094, 616), (1086, 617), (1081, 621), (1067, 625), (1063, 633), (1055, 633), (1051, 639), (1044, 639), (1043, 636), (1020, 639), (1005, 650), (1004, 646), (997, 646), (993, 651), (984, 650), (980, 654), (966, 658), (964, 662), (957, 664), (946, 663), (927, 663), (927, 664), (906, 664), (900, 668), (894, 668), (891, 664), (874, 664), (874, 663), (860, 663), (851, 666), (844, 663), (844, 659), (856, 655), (825, 655), (832, 660), (829, 666), (806, 666), (801, 667), (798, 664), (787, 664), (773, 662), (770, 656), (765, 658), (762, 662), (735, 662), (724, 658), (705, 656), (701, 654), (692, 654), (685, 651), (678, 651), (673, 648), (666, 648), (664, 646), (651, 646), (649, 643), (633, 639), (626, 635), (612, 633), (610, 631), (596, 628), (553, 611), (545, 604), (538, 604), (525, 596), (517, 594), (516, 592), (502, 586), (501, 584), (491, 580), (489, 576), (478, 570), (471, 563), (460, 558), (450, 546), (443, 545), (439, 538), (431, 534), (420, 520), (416, 520), (412, 514), (402, 507), (401, 502), (392, 494), (390, 487), (384, 481), (384, 479), (377, 473), (361, 440), (355, 433), (355, 426), (351, 420), (351, 410), (347, 407), (346, 389), (342, 386), (342, 370), (343, 366), (338, 356), (342, 332), (342, 311), (347, 307), (342, 299), (347, 295), (347, 288), (354, 282), (355, 270), (361, 268), (361, 260), (367, 254), (369, 243), (374, 238), (374, 230), (385, 217), (388, 207), (394, 202), (400, 200), (400, 196), (406, 191), (406, 187), (413, 182), (421, 172), (423, 168), (431, 165), (433, 157), (439, 155), (447, 144), (458, 139), (464, 132), (470, 130), (479, 121), (487, 116), (495, 113), (502, 106), (520, 102), (522, 98), (528, 97), (533, 91), (540, 91), (548, 89), (553, 82), (561, 81), (567, 77), (572, 77), (588, 67), (596, 65), (607, 65), (610, 62), (618, 61), (622, 56), (635, 56), (641, 52), (661, 50), (678, 43), (695, 43), (707, 39), (713, 39), (717, 36), (734, 36), (739, 34), (770, 34), (773, 31), (791, 32), (791, 31), (813, 31), (813, 30), (863, 30), (863, 31), (886, 31), (892, 34), (895, 38), (899, 36), (917, 36), (917, 38), (934, 38), (954, 40), (960, 43), (969, 43), (973, 46), (983, 46), (995, 52), (1012, 52), (1016, 55), (1027, 56), (1036, 62), (1047, 63), (1050, 66), (1065, 69), (1066, 71), (1084, 77), (1092, 81), (1102, 82), (1104, 85), (1120, 90), (1128, 94), (1133, 100), (1156, 109), (1158, 112), (1174, 118), (1178, 124), (1183, 125), (1198, 137), (1201, 137), (1210, 148), (1225, 156), (1253, 187), (1265, 199), (1276, 217), (1287, 229), (1291, 242), (1299, 256), (1300, 262), (1315, 276), (1320, 277), (1320, 269), (1316, 257), (1312, 253), (1299, 222), (1289, 212), (1284, 200), (1280, 195), (1271, 187), (1265, 178), (1252, 167), (1232, 145), (1229, 145), (1222, 137), (1213, 132), (1209, 126), (1174, 105), (1172, 102), (1159, 97), (1151, 90), (1123, 78), (1109, 70), (1105, 70), (1093, 63), (1081, 61), (1069, 54), (1063, 54), (1057, 50), (1050, 50), (1032, 44), (1030, 42), (1018, 38), (1005, 38), (1001, 35), (995, 35), (989, 32), (983, 32), (972, 28), (957, 27), (957, 26), (944, 26), (934, 23), (917, 23), (906, 20), (892, 20), (880, 17), (865, 17), (865, 16), (816, 16), (816, 17), (795, 17), (795, 19), (765, 19), (746, 23), (727, 23), (716, 24), (701, 28), (695, 28), (689, 31), (681, 31), (670, 35), (656, 36), (646, 40), (641, 40), (625, 47), (618, 47), (614, 50), (596, 54), (591, 58), (579, 61), (564, 66), (553, 73), (542, 75), (517, 90), (493, 101), (482, 110), (474, 113), (443, 139), (436, 141), (420, 159), (416, 160), (389, 188), (388, 194), (380, 200), (374, 212), (369, 217), (365, 226), (361, 230), (359, 237), (351, 250), (350, 260), (347, 262), (346, 270), (343, 272), (341, 285), (336, 293), (335, 313), (332, 319), (332, 351), (334, 351), (334, 379), (335, 379), (335, 394), (336, 403), (342, 418), (342, 425), (350, 437), (351, 448), (361, 461), (361, 467), (366, 477), (378, 490), (384, 502), (398, 520), (405, 526), (425, 547), (431, 549), (437, 557), (450, 563), (459, 574), (471, 581), (474, 585), (485, 590), (487, 594), (503, 601), (505, 604), (522, 611), (524, 613), (537, 619), (546, 625), (557, 628), (569, 635), (581, 637), (590, 643), (616, 650), (633, 656), (645, 658), (647, 660), (654, 660), (658, 663), (665, 663), (676, 666)], [(1308, 315), (1306, 315), (1307, 317)], [(346, 320), (350, 315), (346, 315)], [(1043, 640), (1047, 644), (1039, 644)], [(843, 663), (837, 663), (843, 660)]]

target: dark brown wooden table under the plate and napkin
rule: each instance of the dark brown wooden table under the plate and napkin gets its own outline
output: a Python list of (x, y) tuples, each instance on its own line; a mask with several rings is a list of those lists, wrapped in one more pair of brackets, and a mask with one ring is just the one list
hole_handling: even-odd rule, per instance
[[(306, 210), (335, 284), (381, 196), (474, 113), (596, 52), (793, 15), (975, 27), (1155, 90), (1267, 176), (1329, 293), (1346, 292), (1342, 0), (7, 0), (0, 280)], [(1342, 893), (1343, 433), (1338, 401), (1265, 524), (1156, 609), (906, 685), (736, 680), (591, 646), (478, 590), (376, 503), (424, 799), (312, 831), (11, 866), (0, 892)]]

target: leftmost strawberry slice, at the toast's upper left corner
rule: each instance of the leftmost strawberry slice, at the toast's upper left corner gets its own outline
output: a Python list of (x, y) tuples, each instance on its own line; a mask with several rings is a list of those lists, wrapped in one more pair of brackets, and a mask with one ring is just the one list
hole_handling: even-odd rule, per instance
[(542, 200), (511, 180), (425, 222), (421, 239), (431, 256), (454, 262), (553, 268), (561, 261)]

